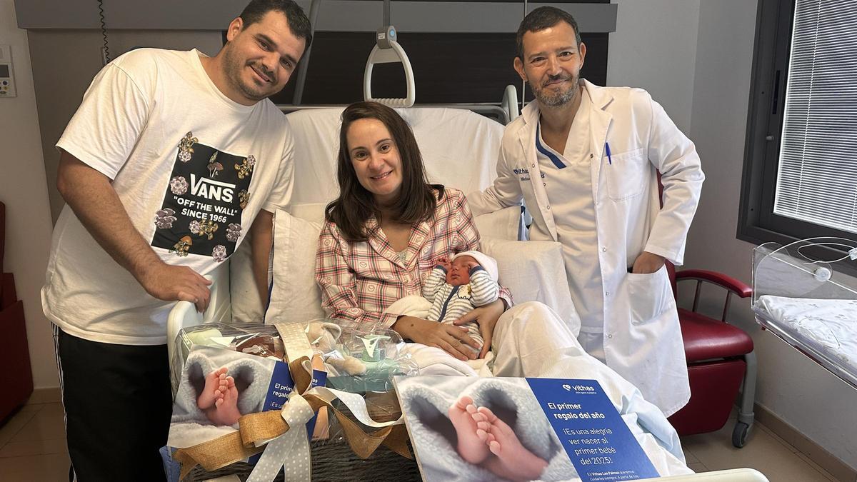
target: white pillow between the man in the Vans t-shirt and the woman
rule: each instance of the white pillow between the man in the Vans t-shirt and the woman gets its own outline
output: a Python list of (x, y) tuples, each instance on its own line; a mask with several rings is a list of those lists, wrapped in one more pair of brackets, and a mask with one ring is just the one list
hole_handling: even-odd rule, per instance
[(266, 323), (325, 317), (321, 291), (315, 283), (320, 232), (321, 222), (302, 220), (281, 210), (274, 214), (273, 282)]

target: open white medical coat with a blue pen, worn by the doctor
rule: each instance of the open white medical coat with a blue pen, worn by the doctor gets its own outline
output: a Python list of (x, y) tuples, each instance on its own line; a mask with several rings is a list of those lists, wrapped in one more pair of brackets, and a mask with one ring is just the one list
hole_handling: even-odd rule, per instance
[[(627, 268), (643, 251), (682, 264), (704, 180), (699, 156), (649, 93), (581, 84), (592, 99), (590, 173), (599, 246), (593, 255), (601, 265), (605, 359), (669, 416), (690, 399), (690, 386), (667, 270), (629, 274)], [(536, 160), (538, 116), (538, 105), (531, 102), (506, 126), (498, 177), (488, 190), (467, 198), (474, 214), (523, 201), (533, 217), (530, 238), (555, 241), (556, 225)], [(662, 173), (663, 208), (657, 171)]]

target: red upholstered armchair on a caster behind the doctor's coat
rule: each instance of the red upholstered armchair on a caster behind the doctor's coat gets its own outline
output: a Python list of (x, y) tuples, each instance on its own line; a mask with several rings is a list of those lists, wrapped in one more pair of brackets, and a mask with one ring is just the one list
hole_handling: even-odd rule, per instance
[[(752, 295), (752, 288), (725, 274), (701, 269), (676, 272), (671, 263), (667, 264), (674, 294), (677, 281), (697, 281), (692, 310), (679, 309), (691, 399), (669, 417), (669, 422), (679, 435), (720, 430), (726, 425), (740, 387), (738, 422), (732, 432), (732, 443), (743, 447), (753, 423), (756, 354), (750, 335), (726, 322), (726, 316), (731, 295), (747, 298)], [(703, 281), (727, 290), (720, 320), (696, 312)]]

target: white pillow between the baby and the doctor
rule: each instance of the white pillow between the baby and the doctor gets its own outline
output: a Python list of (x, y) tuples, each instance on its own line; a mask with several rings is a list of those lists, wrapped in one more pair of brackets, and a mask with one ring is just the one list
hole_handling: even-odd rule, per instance
[(515, 304), (547, 304), (577, 337), (580, 317), (572, 304), (559, 243), (482, 238), (482, 252), (497, 260), (500, 285), (509, 288)]

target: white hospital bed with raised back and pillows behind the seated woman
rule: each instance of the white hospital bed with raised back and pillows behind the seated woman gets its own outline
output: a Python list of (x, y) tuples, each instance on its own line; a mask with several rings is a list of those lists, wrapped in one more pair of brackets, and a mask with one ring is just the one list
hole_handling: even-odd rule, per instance
[[(258, 302), (249, 243), (245, 242), (229, 262), (208, 274), (214, 282), (205, 313), (197, 313), (188, 302), (177, 303), (168, 321), (170, 340), (175, 339), (180, 328), (204, 322), (261, 322), (263, 318), (268, 322), (303, 322), (324, 316), (313, 262), (307, 261), (315, 259), (323, 208), (338, 192), (332, 179), (342, 109), (312, 108), (287, 115), (295, 138), (295, 187), (289, 211), (275, 214), (272, 292), (267, 313), (262, 313)], [(493, 181), (501, 124), (460, 108), (413, 107), (399, 109), (399, 113), (413, 127), (430, 182), (468, 193)], [(482, 250), (498, 258), (500, 282), (511, 289), (516, 303), (537, 300), (557, 313), (571, 313), (560, 245), (518, 241), (520, 220), (518, 207), (477, 216)], [(173, 343), (168, 345), (172, 350)], [(686, 477), (675, 480), (765, 480), (749, 469)]]

